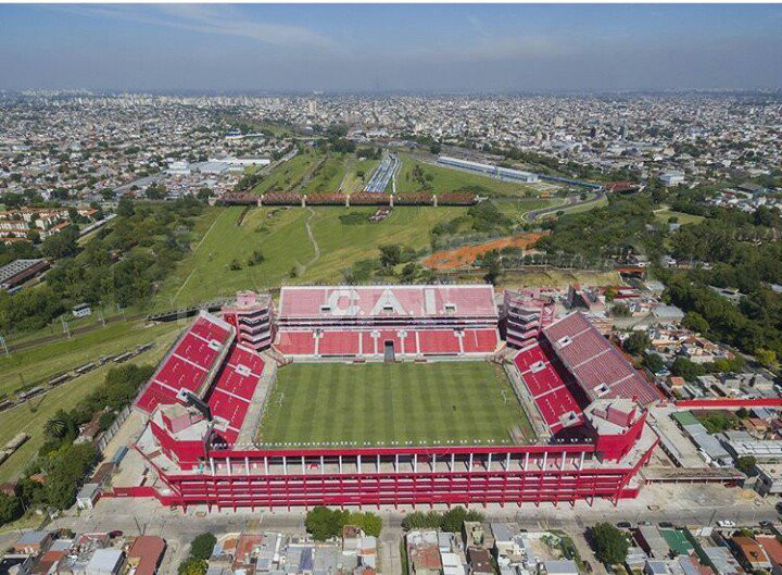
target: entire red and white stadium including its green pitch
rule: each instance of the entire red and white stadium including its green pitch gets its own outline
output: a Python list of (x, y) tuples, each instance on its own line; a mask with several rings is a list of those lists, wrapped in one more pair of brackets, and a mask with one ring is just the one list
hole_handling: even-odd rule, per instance
[[(144, 472), (187, 509), (617, 503), (660, 399), (589, 320), (488, 285), (282, 287), (200, 312), (135, 403)], [(508, 337), (510, 334), (510, 337)]]

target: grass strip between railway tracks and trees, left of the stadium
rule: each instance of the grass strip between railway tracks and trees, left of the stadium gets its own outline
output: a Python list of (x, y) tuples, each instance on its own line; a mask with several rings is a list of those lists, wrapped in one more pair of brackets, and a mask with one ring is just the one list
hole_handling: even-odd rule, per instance
[[(174, 330), (174, 324), (167, 324), (168, 330), (155, 328), (142, 332), (143, 341), (155, 341), (155, 347), (138, 355), (130, 363), (156, 364), (168, 347), (176, 339), (178, 330)], [(116, 340), (117, 342), (121, 340)], [(56, 359), (56, 354), (52, 352)], [(45, 396), (36, 398), (27, 403), (0, 413), (0, 445), (5, 445), (20, 432), (25, 432), (30, 439), (16, 450), (13, 455), (0, 464), (0, 483), (16, 477), (24, 466), (35, 457), (43, 443), (43, 425), (60, 409), (70, 410), (81, 399), (91, 393), (103, 383), (106, 372), (114, 366), (113, 363), (104, 365), (81, 377), (71, 379), (65, 384), (55, 387)]]

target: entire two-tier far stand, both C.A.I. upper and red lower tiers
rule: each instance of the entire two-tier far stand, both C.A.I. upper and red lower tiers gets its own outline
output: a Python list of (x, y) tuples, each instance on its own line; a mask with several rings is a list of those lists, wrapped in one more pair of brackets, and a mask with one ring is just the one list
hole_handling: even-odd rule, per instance
[[(491, 286), (283, 287), (275, 349), (302, 357), (488, 355), (499, 343)], [(313, 333), (317, 335), (313, 337)]]

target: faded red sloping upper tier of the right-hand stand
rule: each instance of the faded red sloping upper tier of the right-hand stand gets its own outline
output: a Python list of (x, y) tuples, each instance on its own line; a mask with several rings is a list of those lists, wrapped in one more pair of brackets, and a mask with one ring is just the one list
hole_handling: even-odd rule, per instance
[(628, 398), (645, 405), (660, 399), (654, 386), (582, 313), (554, 322), (543, 335), (591, 400)]

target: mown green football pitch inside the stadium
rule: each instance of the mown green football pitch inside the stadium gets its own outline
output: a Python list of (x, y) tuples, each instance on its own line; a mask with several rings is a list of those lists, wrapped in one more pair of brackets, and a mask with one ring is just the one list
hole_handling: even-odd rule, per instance
[(265, 443), (512, 443), (529, 429), (502, 368), (483, 362), (291, 364), (279, 370)]

